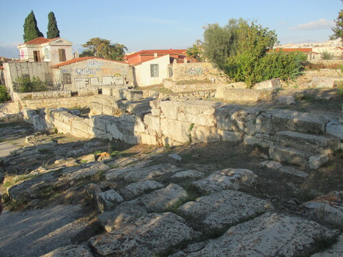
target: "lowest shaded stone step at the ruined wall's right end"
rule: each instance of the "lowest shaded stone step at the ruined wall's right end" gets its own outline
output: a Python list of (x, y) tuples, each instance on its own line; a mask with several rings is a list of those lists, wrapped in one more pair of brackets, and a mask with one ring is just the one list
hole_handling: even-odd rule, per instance
[(322, 164), (329, 160), (327, 154), (316, 154), (311, 151), (304, 151), (280, 145), (269, 147), (269, 156), (277, 162), (296, 164), (302, 169), (318, 169)]

